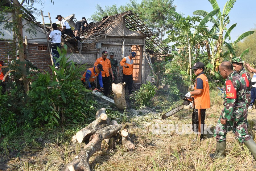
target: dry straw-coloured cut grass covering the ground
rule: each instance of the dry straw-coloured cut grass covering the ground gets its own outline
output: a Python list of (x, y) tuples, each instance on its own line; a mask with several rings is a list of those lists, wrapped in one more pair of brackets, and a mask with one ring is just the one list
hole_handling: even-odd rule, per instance
[[(216, 92), (214, 92), (216, 93)], [(222, 100), (216, 94), (211, 99), (217, 105), (212, 105), (206, 112), (205, 124), (213, 126), (213, 131), (221, 112)], [(92, 170), (95, 171), (204, 171), (204, 170), (252, 170), (255, 161), (249, 150), (239, 144), (233, 133), (227, 134), (226, 156), (224, 159), (212, 160), (209, 157), (216, 148), (216, 141), (212, 134), (208, 134), (204, 141), (192, 141), (194, 134), (181, 134), (170, 131), (164, 134), (153, 134), (153, 124), (191, 124), (192, 110), (181, 110), (179, 113), (162, 120), (161, 115), (147, 113), (146, 116), (133, 118), (136, 126), (129, 128), (130, 137), (134, 141), (135, 151), (128, 152), (122, 144), (116, 144), (109, 149), (103, 141), (102, 150), (95, 153), (89, 160)], [(127, 117), (128, 114), (127, 114)], [(249, 131), (255, 139), (256, 110), (248, 113)], [(70, 137), (71, 139), (71, 137)], [(20, 171), (32, 170), (60, 170), (79, 153), (85, 144), (72, 146), (70, 141), (64, 141), (64, 134), (56, 135), (55, 143), (44, 146), (34, 142), (34, 151), (27, 147), (33, 155), (27, 158), (14, 157), (8, 164), (12, 169)], [(6, 147), (7, 148), (7, 147)], [(8, 150), (2, 155), (7, 155)]]

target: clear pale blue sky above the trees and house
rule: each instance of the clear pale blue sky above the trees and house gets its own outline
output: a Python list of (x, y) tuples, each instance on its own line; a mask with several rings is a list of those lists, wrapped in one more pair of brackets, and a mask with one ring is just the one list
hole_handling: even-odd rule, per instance
[[(81, 20), (82, 17), (90, 18), (90, 16), (95, 12), (96, 5), (100, 4), (101, 7), (111, 6), (116, 4), (117, 6), (125, 5), (129, 3), (129, 0), (91, 0), (91, 1), (81, 1), (81, 0), (55, 0), (54, 4), (50, 0), (43, 1), (43, 5), (35, 4), (35, 8), (42, 10), (44, 15), (48, 15), (50, 12), (52, 22), (57, 21), (55, 17), (60, 14), (63, 17), (67, 17), (71, 14), (75, 14), (77, 20)], [(141, 0), (137, 0), (138, 3)], [(227, 0), (217, 0), (220, 9), (223, 9), (225, 2)], [(184, 17), (188, 15), (193, 16), (192, 12), (196, 10), (205, 10), (210, 12), (213, 10), (211, 4), (208, 0), (174, 0), (174, 5), (176, 5), (176, 11), (178, 13), (184, 14)], [(231, 38), (235, 41), (239, 35), (242, 33), (254, 29), (256, 26), (256, 15), (254, 12), (256, 6), (255, 0), (237, 0), (235, 2), (233, 9), (229, 13), (230, 23), (227, 28), (237, 23), (237, 26), (232, 30)], [(37, 21), (42, 22), (42, 17), (37, 17)], [(45, 19), (46, 20), (46, 19)], [(47, 20), (45, 21), (47, 22)], [(49, 22), (49, 21), (48, 21)], [(88, 20), (88, 23), (91, 22)]]

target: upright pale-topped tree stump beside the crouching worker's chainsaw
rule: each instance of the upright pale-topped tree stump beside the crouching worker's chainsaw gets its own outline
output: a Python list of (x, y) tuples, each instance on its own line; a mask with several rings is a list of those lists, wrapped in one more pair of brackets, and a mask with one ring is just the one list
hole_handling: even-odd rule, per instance
[(125, 101), (125, 83), (112, 84), (112, 91), (114, 93), (114, 102), (119, 110), (123, 110), (127, 104)]

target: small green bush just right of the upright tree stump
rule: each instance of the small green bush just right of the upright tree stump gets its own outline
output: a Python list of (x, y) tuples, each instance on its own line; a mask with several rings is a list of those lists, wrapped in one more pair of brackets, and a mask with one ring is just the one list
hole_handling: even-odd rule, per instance
[(150, 100), (152, 97), (155, 96), (156, 93), (156, 86), (151, 85), (150, 82), (147, 82), (146, 84), (142, 84), (140, 89), (137, 90), (134, 95), (131, 97), (135, 102), (135, 105), (140, 106), (148, 106), (150, 105)]

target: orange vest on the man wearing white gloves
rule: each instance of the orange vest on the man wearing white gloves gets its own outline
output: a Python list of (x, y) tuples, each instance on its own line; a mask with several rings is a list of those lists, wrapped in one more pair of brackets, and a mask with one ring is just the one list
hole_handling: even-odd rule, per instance
[[(199, 95), (194, 95), (195, 97), (195, 109), (209, 109), (210, 108), (210, 93), (209, 93), (209, 84), (208, 84), (208, 79), (204, 74), (199, 74), (197, 78), (201, 78), (203, 81), (203, 89), (198, 89), (201, 90), (202, 93)], [(196, 84), (194, 87), (196, 89)]]

